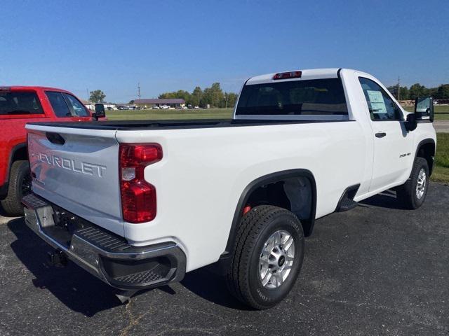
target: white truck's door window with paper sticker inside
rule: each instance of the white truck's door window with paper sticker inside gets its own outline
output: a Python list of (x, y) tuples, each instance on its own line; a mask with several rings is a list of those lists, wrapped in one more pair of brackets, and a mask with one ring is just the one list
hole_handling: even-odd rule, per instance
[(359, 77), (358, 80), (365, 94), (371, 120), (403, 120), (401, 110), (380, 85), (368, 78)]

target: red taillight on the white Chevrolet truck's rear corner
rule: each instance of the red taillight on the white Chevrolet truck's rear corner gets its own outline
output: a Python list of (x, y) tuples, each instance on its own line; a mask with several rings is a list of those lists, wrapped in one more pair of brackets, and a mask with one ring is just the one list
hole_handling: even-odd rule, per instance
[(156, 188), (145, 181), (145, 167), (162, 159), (159, 144), (121, 144), (119, 174), (123, 220), (149, 222), (156, 217)]

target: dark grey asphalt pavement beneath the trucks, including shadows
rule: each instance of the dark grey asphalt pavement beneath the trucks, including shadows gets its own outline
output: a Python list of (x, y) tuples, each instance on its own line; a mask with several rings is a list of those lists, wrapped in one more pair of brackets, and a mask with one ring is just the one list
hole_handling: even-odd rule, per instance
[(0, 335), (449, 335), (449, 186), (423, 207), (394, 194), (316, 222), (287, 299), (254, 311), (198, 269), (119, 304), (76, 265), (46, 265), (22, 218), (0, 217)]

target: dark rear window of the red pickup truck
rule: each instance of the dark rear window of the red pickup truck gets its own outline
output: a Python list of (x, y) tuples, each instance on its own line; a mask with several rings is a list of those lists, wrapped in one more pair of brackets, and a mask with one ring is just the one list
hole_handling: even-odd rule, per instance
[(36, 92), (0, 92), (0, 115), (43, 114)]

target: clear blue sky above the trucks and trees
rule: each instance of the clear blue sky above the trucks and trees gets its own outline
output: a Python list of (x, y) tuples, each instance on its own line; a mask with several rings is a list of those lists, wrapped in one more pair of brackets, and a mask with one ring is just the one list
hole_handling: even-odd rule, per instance
[(449, 83), (448, 0), (1, 2), (0, 85), (108, 102), (262, 73), (345, 67), (384, 85)]

